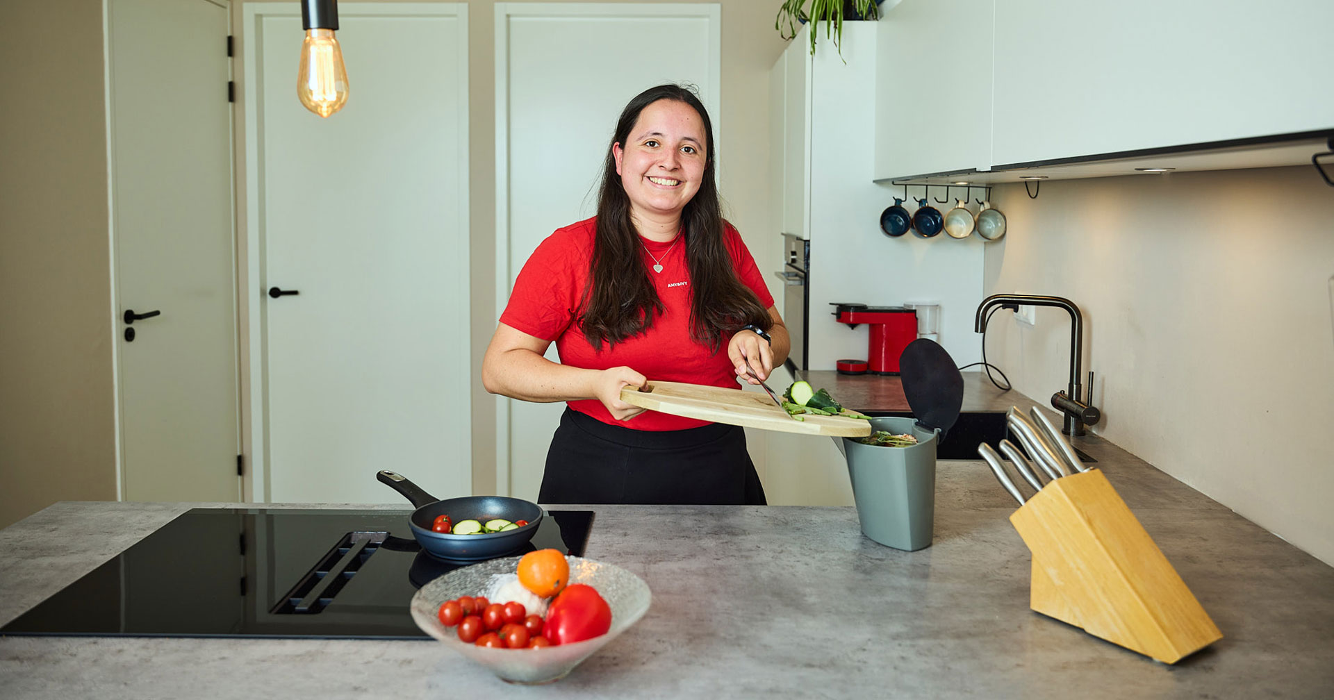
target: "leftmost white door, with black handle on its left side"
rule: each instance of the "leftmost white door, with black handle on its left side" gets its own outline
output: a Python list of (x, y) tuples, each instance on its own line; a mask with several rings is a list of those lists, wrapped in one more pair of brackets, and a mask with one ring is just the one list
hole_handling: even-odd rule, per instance
[(228, 24), (209, 0), (107, 3), (125, 500), (240, 497)]

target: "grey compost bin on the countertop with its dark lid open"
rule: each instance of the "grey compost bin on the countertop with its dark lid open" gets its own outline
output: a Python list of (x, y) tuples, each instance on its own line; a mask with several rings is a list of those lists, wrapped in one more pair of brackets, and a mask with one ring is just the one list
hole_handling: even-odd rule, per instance
[(911, 447), (880, 447), (836, 437), (847, 457), (862, 533), (895, 549), (931, 545), (935, 523), (935, 448), (959, 417), (963, 376), (944, 348), (918, 339), (899, 357), (903, 393), (914, 417), (875, 417), (872, 431), (910, 433)]

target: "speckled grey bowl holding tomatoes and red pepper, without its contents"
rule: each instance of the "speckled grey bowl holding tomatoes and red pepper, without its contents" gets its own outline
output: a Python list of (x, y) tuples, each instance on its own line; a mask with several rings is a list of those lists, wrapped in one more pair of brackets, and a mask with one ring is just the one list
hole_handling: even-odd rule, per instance
[(492, 559), (471, 567), (451, 571), (422, 587), (412, 596), (412, 620), (423, 632), (444, 643), (459, 653), (487, 667), (507, 683), (536, 685), (566, 677), (584, 659), (592, 656), (618, 635), (630, 629), (648, 612), (652, 595), (648, 584), (634, 573), (602, 561), (566, 556), (570, 564), (570, 583), (588, 584), (611, 607), (611, 629), (606, 635), (539, 649), (488, 649), (459, 640), (456, 627), (444, 627), (436, 612), (447, 600), (459, 596), (484, 595), (491, 585), (491, 576), (514, 573), (519, 567), (518, 556)]

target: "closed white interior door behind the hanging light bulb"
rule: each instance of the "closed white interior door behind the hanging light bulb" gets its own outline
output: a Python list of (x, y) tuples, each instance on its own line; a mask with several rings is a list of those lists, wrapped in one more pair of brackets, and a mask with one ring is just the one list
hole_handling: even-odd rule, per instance
[(468, 495), (467, 8), (340, 4), (350, 99), (328, 119), (295, 95), (299, 9), (245, 7), (267, 500), (407, 505), (379, 469)]

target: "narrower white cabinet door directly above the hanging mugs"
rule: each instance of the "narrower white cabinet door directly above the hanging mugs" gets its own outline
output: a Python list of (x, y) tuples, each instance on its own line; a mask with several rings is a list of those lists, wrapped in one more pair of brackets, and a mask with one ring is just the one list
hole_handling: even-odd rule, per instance
[(876, 25), (875, 173), (991, 165), (994, 0), (910, 0)]

